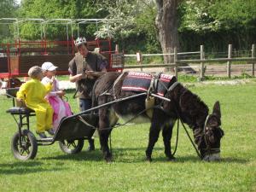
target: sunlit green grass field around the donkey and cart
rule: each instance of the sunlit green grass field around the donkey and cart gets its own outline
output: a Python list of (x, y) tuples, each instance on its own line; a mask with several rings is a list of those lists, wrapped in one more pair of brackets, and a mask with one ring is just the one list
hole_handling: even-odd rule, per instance
[[(55, 143), (39, 147), (35, 160), (15, 160), (10, 141), (17, 128), (5, 113), (11, 101), (0, 96), (0, 191), (256, 191), (256, 84), (189, 89), (210, 110), (216, 100), (221, 103), (225, 136), (220, 162), (199, 160), (182, 129), (176, 161), (166, 161), (160, 137), (154, 161), (146, 162), (148, 124), (113, 131), (112, 164), (102, 160), (98, 139), (95, 152), (86, 152), (85, 143), (80, 154), (67, 155)], [(68, 96), (77, 112), (72, 92)]]

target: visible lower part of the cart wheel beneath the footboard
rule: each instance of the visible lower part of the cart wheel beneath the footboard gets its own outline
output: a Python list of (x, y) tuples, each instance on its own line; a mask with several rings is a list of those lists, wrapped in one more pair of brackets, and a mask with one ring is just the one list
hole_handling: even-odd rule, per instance
[(84, 147), (84, 139), (64, 140), (59, 142), (61, 150), (66, 154), (78, 154)]

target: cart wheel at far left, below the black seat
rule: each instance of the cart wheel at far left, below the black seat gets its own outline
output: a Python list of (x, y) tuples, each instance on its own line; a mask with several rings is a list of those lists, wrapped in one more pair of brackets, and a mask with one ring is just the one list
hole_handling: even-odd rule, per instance
[[(21, 137), (21, 143), (20, 143)], [(29, 130), (17, 131), (12, 139), (12, 152), (18, 160), (32, 160), (38, 153), (37, 138)]]

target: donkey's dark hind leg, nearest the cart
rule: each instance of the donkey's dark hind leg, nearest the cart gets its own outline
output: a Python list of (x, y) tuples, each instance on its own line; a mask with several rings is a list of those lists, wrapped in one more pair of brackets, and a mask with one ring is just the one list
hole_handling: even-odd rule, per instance
[(109, 119), (108, 119), (108, 108), (100, 108), (99, 109), (99, 135), (100, 135), (100, 143), (102, 147), (102, 152), (104, 155), (104, 159), (107, 161), (112, 160), (112, 154), (110, 153), (108, 147), (108, 137), (111, 133), (111, 129), (109, 128)]

